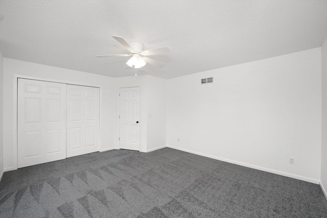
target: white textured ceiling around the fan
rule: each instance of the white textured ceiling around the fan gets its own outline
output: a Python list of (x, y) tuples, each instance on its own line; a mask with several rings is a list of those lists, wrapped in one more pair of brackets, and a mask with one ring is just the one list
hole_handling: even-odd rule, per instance
[[(110, 77), (132, 76), (111, 36), (145, 50), (169, 46), (165, 63), (139, 69), (174, 78), (320, 47), (327, 1), (0, 1), (4, 57)], [(171, 60), (170, 60), (171, 59)]]

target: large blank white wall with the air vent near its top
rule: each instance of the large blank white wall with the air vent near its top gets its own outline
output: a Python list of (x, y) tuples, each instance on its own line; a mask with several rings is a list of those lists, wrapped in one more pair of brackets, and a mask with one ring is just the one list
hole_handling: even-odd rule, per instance
[[(208, 77), (214, 83), (201, 85)], [(319, 47), (170, 79), (167, 143), (318, 183), (320, 78)]]

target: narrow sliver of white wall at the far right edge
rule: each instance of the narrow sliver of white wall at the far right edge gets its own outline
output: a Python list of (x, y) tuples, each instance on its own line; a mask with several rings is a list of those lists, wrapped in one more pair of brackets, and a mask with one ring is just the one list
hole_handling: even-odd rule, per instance
[(327, 38), (321, 46), (321, 85), (322, 85), (322, 117), (321, 117), (321, 185), (327, 199)]

